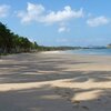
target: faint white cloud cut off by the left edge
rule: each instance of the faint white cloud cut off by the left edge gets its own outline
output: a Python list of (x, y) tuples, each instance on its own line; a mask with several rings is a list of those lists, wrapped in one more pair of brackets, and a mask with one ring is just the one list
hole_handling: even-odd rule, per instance
[(1, 4), (0, 6), (0, 18), (4, 18), (9, 13), (10, 6)]

